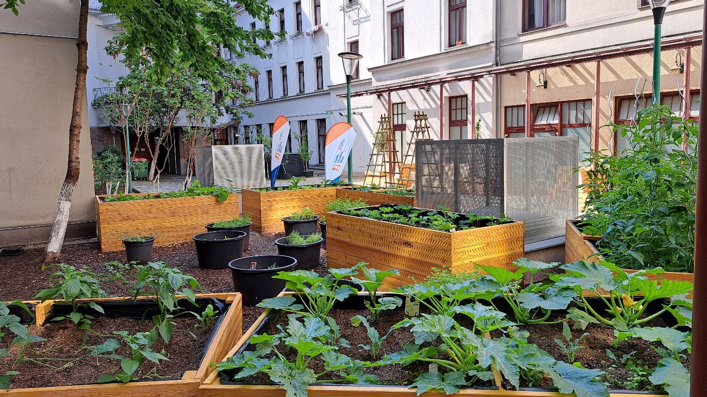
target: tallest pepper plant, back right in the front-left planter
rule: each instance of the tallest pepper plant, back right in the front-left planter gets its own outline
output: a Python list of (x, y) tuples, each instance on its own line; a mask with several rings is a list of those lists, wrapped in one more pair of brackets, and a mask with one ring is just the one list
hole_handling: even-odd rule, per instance
[[(157, 326), (160, 336), (165, 343), (169, 343), (172, 338), (174, 322), (170, 321), (174, 317), (173, 312), (179, 308), (179, 300), (185, 299), (193, 305), (196, 303), (195, 288), (201, 286), (197, 279), (183, 274), (182, 271), (170, 267), (165, 262), (148, 262), (137, 272), (138, 282), (130, 290), (134, 298), (139, 295), (153, 295), (160, 310), (160, 314), (152, 317), (153, 323)], [(185, 298), (177, 298), (177, 295), (184, 295)]]

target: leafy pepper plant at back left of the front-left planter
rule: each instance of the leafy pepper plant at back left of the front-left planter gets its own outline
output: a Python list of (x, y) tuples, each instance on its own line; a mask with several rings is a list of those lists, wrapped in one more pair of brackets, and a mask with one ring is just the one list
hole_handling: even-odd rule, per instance
[[(69, 314), (71, 322), (74, 322), (74, 324), (81, 329), (88, 329), (94, 317), (89, 314), (81, 314), (77, 312), (77, 310), (90, 307), (93, 310), (103, 313), (103, 308), (95, 302), (77, 303), (76, 300), (103, 298), (105, 296), (105, 292), (100, 289), (98, 276), (93, 274), (87, 266), (77, 270), (71, 265), (62, 263), (52, 264), (47, 267), (42, 267), (42, 269), (49, 269), (54, 266), (59, 267), (59, 271), (55, 271), (49, 276), (49, 280), (54, 283), (54, 286), (40, 291), (35, 298), (41, 298), (42, 302), (59, 298), (63, 300), (64, 303), (71, 304), (71, 313)], [(54, 320), (59, 321), (65, 318), (66, 317), (55, 317)]]

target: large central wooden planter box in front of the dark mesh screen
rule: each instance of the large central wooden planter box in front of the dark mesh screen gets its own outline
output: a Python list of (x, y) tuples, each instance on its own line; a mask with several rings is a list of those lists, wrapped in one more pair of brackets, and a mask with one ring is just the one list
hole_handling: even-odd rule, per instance
[(366, 262), (379, 270), (398, 269), (384, 288), (421, 282), (430, 268), (472, 271), (474, 264), (513, 269), (525, 254), (525, 224), (513, 222), (446, 233), (375, 219), (327, 213), (327, 263), (351, 267)]

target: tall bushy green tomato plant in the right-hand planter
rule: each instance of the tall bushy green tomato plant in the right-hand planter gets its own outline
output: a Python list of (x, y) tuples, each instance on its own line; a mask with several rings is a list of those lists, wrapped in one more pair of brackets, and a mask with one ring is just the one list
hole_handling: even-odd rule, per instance
[(666, 105), (643, 109), (637, 118), (612, 124), (631, 140), (621, 156), (591, 152), (580, 228), (602, 236), (597, 248), (621, 268), (692, 272), (697, 125)]

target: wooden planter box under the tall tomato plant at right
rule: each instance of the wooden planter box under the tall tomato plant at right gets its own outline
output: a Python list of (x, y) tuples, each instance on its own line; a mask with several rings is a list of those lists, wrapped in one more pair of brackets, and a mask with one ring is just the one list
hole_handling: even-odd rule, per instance
[[(581, 233), (577, 228), (580, 221), (569, 220), (565, 226), (565, 263), (577, 262), (578, 260), (588, 260), (590, 262), (599, 263), (601, 256), (599, 250), (594, 245), (594, 241), (599, 240), (599, 236), (590, 236)], [(626, 273), (633, 273), (636, 270), (624, 269)], [(650, 280), (658, 280), (658, 276), (646, 274)], [(680, 273), (677, 271), (666, 271), (660, 275), (662, 279), (689, 281), (694, 283), (694, 274)]]

